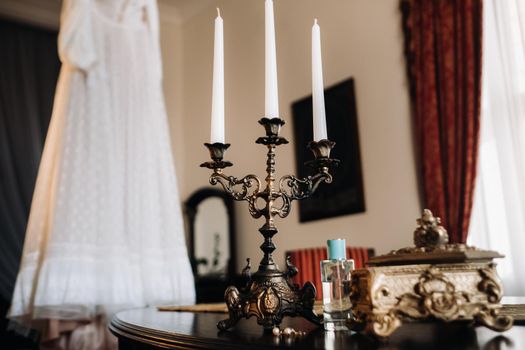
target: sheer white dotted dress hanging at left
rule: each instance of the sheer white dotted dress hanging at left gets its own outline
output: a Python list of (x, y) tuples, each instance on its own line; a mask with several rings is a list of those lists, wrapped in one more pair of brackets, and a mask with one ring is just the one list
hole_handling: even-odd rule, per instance
[(92, 320), (195, 299), (155, 0), (65, 0), (53, 116), (10, 317)]

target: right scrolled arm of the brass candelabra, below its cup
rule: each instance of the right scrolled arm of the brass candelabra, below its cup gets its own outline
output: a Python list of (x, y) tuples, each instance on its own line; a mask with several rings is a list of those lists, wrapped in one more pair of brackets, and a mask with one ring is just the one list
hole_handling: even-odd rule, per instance
[(293, 175), (285, 175), (279, 180), (279, 191), (285, 194), (290, 201), (306, 199), (315, 193), (321, 182), (331, 183), (332, 175), (328, 171), (320, 171), (302, 179)]

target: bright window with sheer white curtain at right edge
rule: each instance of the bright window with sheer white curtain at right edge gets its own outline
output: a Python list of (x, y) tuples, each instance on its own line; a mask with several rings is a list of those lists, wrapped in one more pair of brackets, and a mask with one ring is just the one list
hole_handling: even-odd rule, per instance
[(506, 295), (525, 295), (525, 3), (486, 0), (479, 167), (468, 243), (506, 255)]

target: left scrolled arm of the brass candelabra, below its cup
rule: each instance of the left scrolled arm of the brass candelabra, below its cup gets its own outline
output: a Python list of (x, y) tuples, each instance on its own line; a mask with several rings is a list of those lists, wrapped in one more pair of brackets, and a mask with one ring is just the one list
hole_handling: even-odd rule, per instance
[[(243, 178), (227, 176), (220, 171), (215, 171), (210, 176), (210, 184), (220, 184), (222, 188), (236, 201), (248, 201), (259, 193), (261, 189), (261, 180), (255, 175), (246, 175)], [(236, 189), (240, 186), (239, 189)]]

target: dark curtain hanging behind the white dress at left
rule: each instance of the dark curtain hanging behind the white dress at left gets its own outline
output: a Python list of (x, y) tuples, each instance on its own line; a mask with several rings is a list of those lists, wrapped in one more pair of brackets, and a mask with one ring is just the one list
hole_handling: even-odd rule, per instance
[(0, 20), (0, 335), (6, 332), (60, 61), (57, 33)]

